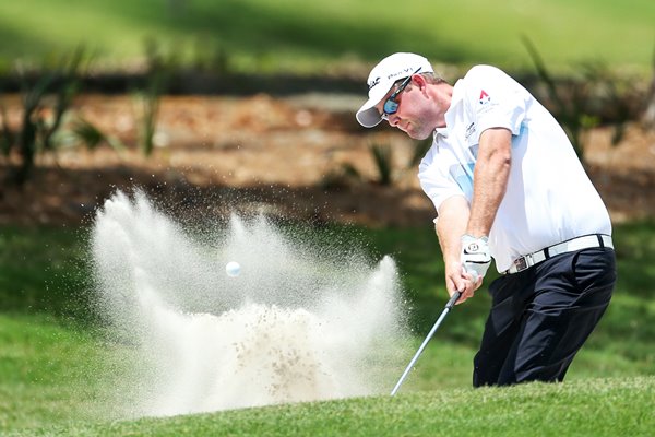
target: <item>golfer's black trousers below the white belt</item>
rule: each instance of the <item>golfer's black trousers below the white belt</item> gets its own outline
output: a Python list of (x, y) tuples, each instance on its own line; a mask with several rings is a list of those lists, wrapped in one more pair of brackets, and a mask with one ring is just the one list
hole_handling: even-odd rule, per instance
[(611, 299), (615, 252), (584, 249), (491, 283), (474, 387), (561, 381)]

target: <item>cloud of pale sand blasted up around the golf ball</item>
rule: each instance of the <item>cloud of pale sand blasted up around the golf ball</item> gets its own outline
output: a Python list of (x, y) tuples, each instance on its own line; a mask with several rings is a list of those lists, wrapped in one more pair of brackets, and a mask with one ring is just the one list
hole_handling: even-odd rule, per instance
[(139, 191), (105, 202), (91, 244), (97, 309), (132, 354), (117, 388), (132, 416), (393, 387), (412, 355), (393, 259), (310, 243), (303, 229), (233, 215), (199, 233)]

